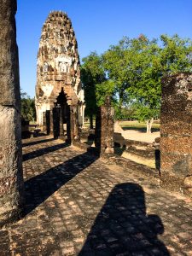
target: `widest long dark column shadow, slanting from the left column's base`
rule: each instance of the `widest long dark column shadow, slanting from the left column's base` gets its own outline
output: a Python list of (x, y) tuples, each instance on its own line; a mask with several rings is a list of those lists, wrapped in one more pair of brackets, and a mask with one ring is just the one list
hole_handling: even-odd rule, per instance
[(38, 207), (50, 195), (60, 189), (65, 183), (75, 177), (84, 168), (90, 166), (97, 158), (88, 153), (79, 154), (62, 163), (50, 168), (24, 183), (26, 203), (23, 217)]

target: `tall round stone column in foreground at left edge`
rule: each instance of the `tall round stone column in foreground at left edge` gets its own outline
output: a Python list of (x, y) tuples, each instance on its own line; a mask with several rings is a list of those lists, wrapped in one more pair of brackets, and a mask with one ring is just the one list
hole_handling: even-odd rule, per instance
[(16, 7), (0, 2), (0, 226), (20, 218), (23, 203)]

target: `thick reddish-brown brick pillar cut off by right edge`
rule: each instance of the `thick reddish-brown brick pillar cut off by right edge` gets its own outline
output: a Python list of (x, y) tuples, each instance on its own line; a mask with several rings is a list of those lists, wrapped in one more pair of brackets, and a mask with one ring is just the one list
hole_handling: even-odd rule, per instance
[(162, 80), (161, 184), (192, 192), (192, 73)]

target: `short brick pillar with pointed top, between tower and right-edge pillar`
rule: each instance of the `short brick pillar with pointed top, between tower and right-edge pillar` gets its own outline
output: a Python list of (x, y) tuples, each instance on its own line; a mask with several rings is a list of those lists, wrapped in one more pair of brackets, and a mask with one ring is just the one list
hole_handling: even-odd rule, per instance
[(96, 113), (95, 144), (99, 154), (113, 153), (114, 109), (111, 106), (110, 96)]

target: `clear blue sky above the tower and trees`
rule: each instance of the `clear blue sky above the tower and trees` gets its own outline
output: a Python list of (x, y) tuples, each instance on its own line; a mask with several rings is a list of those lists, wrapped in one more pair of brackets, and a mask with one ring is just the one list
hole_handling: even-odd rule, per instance
[(80, 59), (93, 50), (101, 54), (123, 36), (192, 38), (191, 0), (18, 0), (20, 88), (30, 96), (35, 95), (41, 28), (51, 10), (65, 11), (72, 20)]

